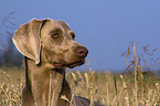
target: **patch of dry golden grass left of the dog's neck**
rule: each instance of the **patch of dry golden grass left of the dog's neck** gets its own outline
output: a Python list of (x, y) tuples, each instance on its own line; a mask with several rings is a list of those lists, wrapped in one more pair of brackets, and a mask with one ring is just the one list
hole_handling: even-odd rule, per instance
[(0, 106), (20, 106), (23, 75), (18, 68), (0, 68)]

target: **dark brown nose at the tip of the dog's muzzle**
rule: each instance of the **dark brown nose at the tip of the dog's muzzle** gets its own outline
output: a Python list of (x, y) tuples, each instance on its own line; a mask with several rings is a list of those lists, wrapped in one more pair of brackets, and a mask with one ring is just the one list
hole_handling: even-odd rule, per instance
[(79, 57), (86, 57), (88, 54), (88, 50), (85, 46), (77, 46), (75, 51), (77, 56)]

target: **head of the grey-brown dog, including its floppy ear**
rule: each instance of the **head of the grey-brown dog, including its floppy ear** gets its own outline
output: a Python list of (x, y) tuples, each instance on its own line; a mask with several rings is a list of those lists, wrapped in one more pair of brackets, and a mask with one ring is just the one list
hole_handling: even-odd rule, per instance
[(33, 19), (20, 25), (12, 40), (20, 53), (35, 64), (65, 68), (84, 64), (88, 53), (74, 38), (75, 33), (62, 20)]

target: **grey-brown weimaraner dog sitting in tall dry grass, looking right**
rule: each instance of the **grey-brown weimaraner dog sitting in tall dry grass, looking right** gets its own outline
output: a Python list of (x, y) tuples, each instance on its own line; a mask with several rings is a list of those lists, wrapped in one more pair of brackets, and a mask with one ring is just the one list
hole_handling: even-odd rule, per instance
[(25, 66), (22, 106), (89, 106), (87, 98), (73, 96), (65, 80), (65, 67), (84, 64), (88, 53), (74, 38), (64, 21), (52, 19), (33, 19), (15, 31), (12, 40)]

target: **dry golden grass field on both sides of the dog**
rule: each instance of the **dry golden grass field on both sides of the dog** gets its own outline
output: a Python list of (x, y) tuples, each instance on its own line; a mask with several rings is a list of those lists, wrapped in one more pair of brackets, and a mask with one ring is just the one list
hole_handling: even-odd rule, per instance
[[(132, 47), (132, 51), (130, 50)], [(105, 106), (160, 106), (160, 80), (143, 68), (136, 44), (128, 47), (126, 73), (67, 71), (66, 78), (74, 95), (79, 95)], [(24, 72), (18, 67), (0, 68), (0, 106), (20, 106), (21, 89), (24, 86)], [(68, 100), (65, 95), (62, 99)], [(68, 100), (70, 102), (70, 100)], [(71, 106), (72, 106), (72, 102)]]

